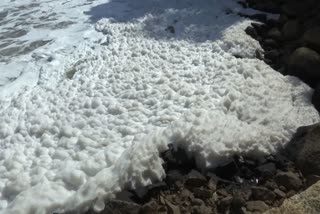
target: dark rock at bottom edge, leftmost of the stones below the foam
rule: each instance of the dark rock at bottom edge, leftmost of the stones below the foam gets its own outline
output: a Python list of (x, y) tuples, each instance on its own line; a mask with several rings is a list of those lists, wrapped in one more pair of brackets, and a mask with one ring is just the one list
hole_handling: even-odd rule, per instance
[(110, 214), (139, 214), (140, 213), (141, 206), (132, 203), (132, 202), (126, 202), (126, 201), (120, 201), (120, 200), (111, 200), (106, 203), (104, 213), (110, 213)]

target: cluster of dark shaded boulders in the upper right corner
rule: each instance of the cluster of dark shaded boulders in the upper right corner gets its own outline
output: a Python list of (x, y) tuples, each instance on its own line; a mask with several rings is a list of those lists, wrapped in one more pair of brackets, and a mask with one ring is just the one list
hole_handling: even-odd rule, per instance
[(312, 102), (320, 111), (320, 1), (247, 0), (243, 5), (280, 14), (278, 20), (259, 19), (246, 32), (260, 42), (267, 64), (315, 88)]

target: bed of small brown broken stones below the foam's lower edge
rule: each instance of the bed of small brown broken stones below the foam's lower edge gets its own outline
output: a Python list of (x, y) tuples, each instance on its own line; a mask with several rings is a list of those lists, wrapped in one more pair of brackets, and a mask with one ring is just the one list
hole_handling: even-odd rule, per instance
[(306, 187), (293, 162), (280, 154), (259, 160), (235, 156), (206, 172), (200, 172), (183, 150), (170, 149), (162, 157), (164, 181), (120, 192), (101, 213), (262, 213)]

